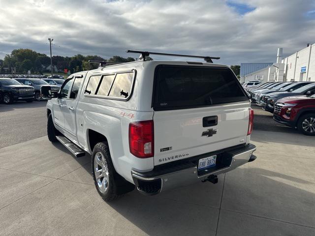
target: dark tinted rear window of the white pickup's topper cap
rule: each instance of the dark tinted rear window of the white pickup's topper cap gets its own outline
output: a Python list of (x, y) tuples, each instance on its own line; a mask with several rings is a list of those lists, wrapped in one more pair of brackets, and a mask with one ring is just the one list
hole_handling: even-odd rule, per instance
[(205, 107), (248, 100), (228, 68), (159, 65), (155, 71), (154, 110)]

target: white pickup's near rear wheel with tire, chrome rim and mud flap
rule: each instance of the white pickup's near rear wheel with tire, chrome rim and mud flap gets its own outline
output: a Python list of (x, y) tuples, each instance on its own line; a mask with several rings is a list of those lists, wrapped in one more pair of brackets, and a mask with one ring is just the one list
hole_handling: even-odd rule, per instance
[(93, 148), (92, 175), (98, 194), (106, 202), (113, 201), (134, 189), (133, 184), (115, 171), (106, 142), (98, 143)]

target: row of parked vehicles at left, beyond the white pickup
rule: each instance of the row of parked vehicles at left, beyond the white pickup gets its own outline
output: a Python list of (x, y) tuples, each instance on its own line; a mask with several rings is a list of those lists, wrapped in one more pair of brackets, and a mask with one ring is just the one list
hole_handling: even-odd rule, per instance
[(0, 102), (11, 104), (15, 101), (41, 101), (42, 87), (50, 87), (52, 94), (57, 94), (62, 82), (64, 80), (60, 79), (0, 78)]

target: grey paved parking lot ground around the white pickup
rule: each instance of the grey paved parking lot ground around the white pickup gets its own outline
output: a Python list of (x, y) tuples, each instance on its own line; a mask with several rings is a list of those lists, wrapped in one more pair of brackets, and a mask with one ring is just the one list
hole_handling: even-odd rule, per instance
[[(3, 118), (32, 114), (22, 104), (6, 112), (3, 106), (1, 145), (14, 128)], [(32, 106), (45, 112), (44, 103)], [(90, 156), (76, 159), (51, 144), (45, 114), (33, 114), (41, 131), (30, 138), (32, 127), (19, 126), (22, 137), (0, 148), (0, 235), (315, 235), (315, 139), (267, 112), (255, 109), (257, 160), (219, 176), (218, 184), (153, 197), (133, 191), (109, 204), (95, 190)]]

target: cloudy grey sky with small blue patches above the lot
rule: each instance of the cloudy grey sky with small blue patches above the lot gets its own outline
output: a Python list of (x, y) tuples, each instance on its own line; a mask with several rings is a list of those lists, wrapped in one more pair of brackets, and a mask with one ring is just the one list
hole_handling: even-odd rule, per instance
[(135, 49), (273, 62), (278, 47), (290, 55), (315, 43), (315, 0), (0, 0), (0, 59), (16, 48), (49, 54), (48, 37), (61, 56)]

